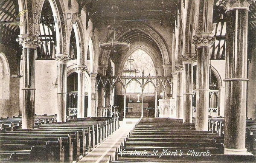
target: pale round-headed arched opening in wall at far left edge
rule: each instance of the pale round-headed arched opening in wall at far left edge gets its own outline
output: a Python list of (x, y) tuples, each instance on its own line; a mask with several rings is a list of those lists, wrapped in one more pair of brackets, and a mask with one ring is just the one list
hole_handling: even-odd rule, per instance
[(0, 53), (0, 99), (10, 99), (10, 67), (4, 53)]

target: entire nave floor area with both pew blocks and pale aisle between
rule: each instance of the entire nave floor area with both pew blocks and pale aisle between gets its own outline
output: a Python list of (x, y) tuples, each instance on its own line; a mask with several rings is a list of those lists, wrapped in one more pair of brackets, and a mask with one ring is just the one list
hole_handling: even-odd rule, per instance
[[(14, 120), (16, 119), (16, 120)], [(119, 117), (42, 121), (36, 129), (21, 129), (20, 118), (1, 119), (1, 162), (254, 163), (255, 155), (224, 155), (222, 118), (209, 120), (209, 131), (196, 131), (182, 119)], [(51, 118), (49, 118), (51, 119)], [(247, 151), (255, 154), (256, 121), (247, 121)], [(4, 124), (4, 125), (3, 125)], [(8, 131), (11, 130), (11, 131)]]

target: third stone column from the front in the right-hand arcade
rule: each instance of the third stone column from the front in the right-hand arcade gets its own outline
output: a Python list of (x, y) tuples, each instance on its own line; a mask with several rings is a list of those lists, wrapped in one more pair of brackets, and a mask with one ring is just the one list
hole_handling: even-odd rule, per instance
[(184, 66), (184, 94), (183, 94), (183, 123), (192, 123), (192, 100), (193, 100), (193, 62), (196, 55), (192, 53), (183, 54), (181, 57)]

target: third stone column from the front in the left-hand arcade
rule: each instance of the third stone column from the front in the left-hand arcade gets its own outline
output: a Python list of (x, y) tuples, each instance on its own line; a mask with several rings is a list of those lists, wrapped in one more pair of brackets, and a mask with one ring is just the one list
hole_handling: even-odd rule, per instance
[(78, 84), (77, 84), (77, 118), (84, 118), (84, 79), (87, 66), (79, 65), (76, 67), (78, 73)]

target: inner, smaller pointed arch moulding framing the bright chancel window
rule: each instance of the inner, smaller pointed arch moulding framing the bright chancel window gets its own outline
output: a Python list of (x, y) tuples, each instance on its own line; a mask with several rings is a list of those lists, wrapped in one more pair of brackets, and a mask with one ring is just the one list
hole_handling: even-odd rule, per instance
[[(124, 69), (125, 62), (127, 61), (128, 57), (134, 52), (137, 51), (138, 49), (141, 49), (145, 51), (149, 57), (152, 59), (154, 67), (157, 68), (157, 65), (159, 65), (159, 62), (157, 62), (158, 58), (155, 56), (155, 53), (151, 50), (149, 50), (146, 45), (136, 45), (129, 49), (128, 51), (125, 52), (125, 55), (122, 55), (122, 60), (120, 62), (120, 67), (119, 67), (119, 74), (122, 74), (122, 70)], [(158, 70), (158, 72), (162, 72), (161, 70)]]

